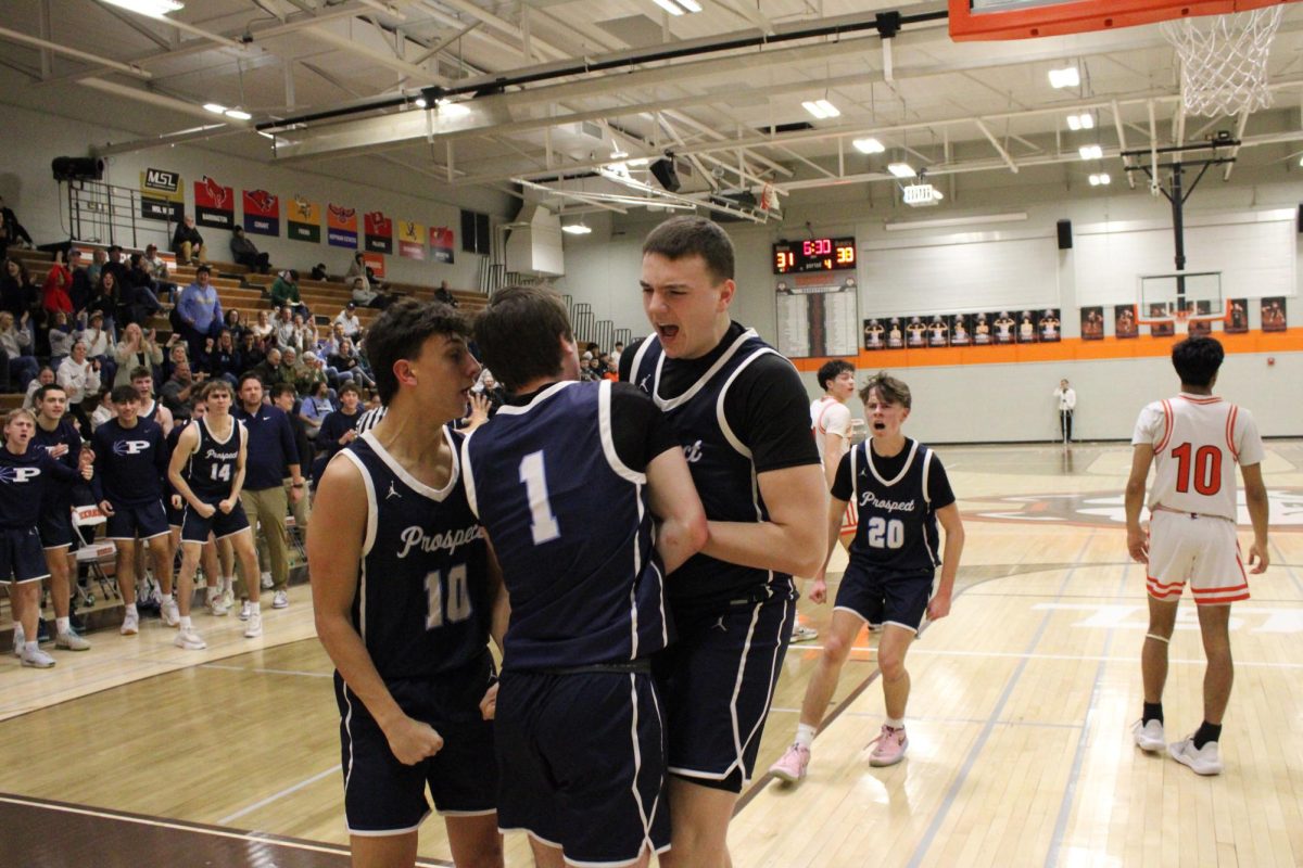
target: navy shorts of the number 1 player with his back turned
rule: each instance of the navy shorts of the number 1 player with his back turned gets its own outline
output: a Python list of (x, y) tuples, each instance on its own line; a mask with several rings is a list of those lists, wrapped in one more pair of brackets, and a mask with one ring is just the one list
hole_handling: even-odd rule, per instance
[(665, 730), (649, 673), (504, 671), (494, 720), (498, 828), (566, 864), (627, 865), (670, 846)]

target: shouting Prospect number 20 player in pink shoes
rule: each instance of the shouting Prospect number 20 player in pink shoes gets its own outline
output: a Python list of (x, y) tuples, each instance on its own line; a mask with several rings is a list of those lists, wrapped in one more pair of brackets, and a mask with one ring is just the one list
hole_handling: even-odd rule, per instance
[[(837, 690), (860, 627), (882, 625), (878, 640), (878, 669), (886, 695), (887, 720), (874, 739), (869, 765), (894, 765), (904, 759), (909, 739), (904, 731), (904, 711), (909, 699), (909, 673), (906, 652), (923, 623), (950, 614), (950, 597), (964, 548), (964, 528), (959, 519), (950, 480), (933, 452), (900, 433), (909, 416), (909, 387), (886, 373), (872, 377), (860, 390), (872, 436), (842, 457), (827, 508), (827, 554), (842, 527), (846, 505), (860, 508), (859, 530), (851, 541), (851, 561), (842, 575), (833, 608), (833, 623), (825, 636), (818, 669), (805, 688), (796, 742), (770, 772), (784, 781), (805, 777), (810, 743), (823, 720), (823, 712)], [(937, 523), (946, 531), (945, 558)], [(941, 584), (933, 590), (937, 566)], [(823, 571), (814, 576), (810, 599), (826, 596)]]

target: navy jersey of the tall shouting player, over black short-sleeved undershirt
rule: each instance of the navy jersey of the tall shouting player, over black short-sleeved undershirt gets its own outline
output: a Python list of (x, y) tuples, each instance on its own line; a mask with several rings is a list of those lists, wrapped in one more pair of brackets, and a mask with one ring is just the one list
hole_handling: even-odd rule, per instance
[[(777, 354), (777, 350), (760, 340), (754, 329), (747, 329), (701, 379), (674, 398), (661, 396), (661, 375), (666, 364), (661, 341), (655, 336), (648, 337), (638, 345), (633, 358), (629, 379), (652, 396), (674, 428), (710, 521), (769, 519), (756, 481), (751, 450), (730, 429), (724, 418), (728, 387), (748, 364), (769, 353)], [(675, 360), (670, 359), (668, 363), (674, 364)], [(668, 593), (674, 600), (728, 596), (754, 590), (775, 578), (788, 576), (693, 554), (674, 571)]]

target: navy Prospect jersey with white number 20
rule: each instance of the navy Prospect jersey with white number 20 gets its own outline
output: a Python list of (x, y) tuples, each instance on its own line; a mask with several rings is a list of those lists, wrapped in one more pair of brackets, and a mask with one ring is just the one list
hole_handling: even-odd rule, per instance
[(865, 440), (843, 458), (851, 462), (860, 509), (851, 557), (889, 573), (932, 573), (941, 563), (937, 513), (928, 495), (932, 450), (907, 437), (904, 466), (885, 479), (878, 466), (882, 458), (874, 461), (870, 442)]

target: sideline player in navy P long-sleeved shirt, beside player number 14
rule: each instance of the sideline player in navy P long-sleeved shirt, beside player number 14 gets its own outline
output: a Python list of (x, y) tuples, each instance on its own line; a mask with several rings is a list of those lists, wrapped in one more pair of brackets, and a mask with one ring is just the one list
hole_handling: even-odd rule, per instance
[(136, 387), (113, 389), (117, 416), (95, 428), (91, 442), (95, 452), (95, 500), (108, 517), (106, 535), (117, 547), (117, 588), (122, 593), (124, 636), (139, 632), (141, 618), (136, 608), (136, 550), (139, 541), (149, 541), (154, 561), (154, 578), (163, 591), (160, 614), (175, 627), (181, 622), (172, 599), (172, 547), (163, 509), (167, 479), (167, 440), (163, 428), (138, 416), (141, 397)]

